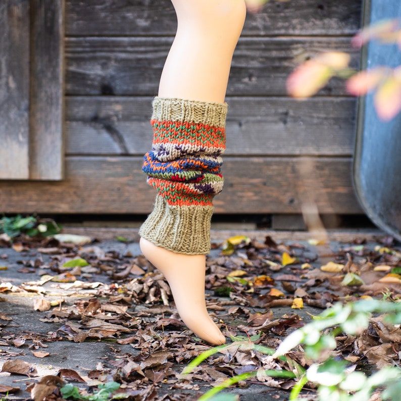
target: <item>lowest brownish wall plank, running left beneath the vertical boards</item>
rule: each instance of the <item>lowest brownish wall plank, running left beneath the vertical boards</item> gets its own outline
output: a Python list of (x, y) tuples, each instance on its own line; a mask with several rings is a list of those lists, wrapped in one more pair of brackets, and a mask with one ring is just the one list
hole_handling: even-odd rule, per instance
[[(0, 181), (1, 212), (149, 213), (156, 191), (148, 187), (140, 157), (68, 157), (64, 181)], [(216, 213), (361, 213), (351, 183), (350, 158), (226, 157), (225, 189)]]

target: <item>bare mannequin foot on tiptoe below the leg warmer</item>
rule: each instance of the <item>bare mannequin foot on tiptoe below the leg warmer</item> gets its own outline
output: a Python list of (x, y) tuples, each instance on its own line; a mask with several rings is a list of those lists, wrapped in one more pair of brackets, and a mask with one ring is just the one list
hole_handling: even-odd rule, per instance
[(205, 255), (176, 254), (144, 238), (140, 239), (140, 248), (145, 258), (166, 277), (185, 325), (211, 344), (224, 344), (225, 337), (206, 309)]

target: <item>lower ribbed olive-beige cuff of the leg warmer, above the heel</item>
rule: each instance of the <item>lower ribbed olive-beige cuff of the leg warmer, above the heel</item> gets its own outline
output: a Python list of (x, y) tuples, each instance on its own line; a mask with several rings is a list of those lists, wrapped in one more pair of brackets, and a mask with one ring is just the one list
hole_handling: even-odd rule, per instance
[(158, 195), (139, 235), (178, 254), (208, 254), (212, 214), (213, 206), (171, 206)]

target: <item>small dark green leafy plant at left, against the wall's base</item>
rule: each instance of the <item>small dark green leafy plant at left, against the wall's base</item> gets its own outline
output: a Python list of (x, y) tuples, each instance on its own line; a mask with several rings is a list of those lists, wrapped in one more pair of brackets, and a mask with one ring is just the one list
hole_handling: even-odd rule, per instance
[(46, 237), (61, 231), (61, 227), (52, 219), (39, 219), (34, 216), (14, 217), (4, 216), (0, 219), (0, 233), (6, 233), (10, 238), (15, 238), (21, 234), (33, 237), (40, 235)]

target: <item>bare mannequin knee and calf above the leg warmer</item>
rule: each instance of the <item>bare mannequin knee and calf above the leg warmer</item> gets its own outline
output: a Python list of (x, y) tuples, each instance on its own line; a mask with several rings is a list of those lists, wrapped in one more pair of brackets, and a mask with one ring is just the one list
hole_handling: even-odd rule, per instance
[(159, 96), (223, 103), (244, 0), (172, 0), (178, 27)]

